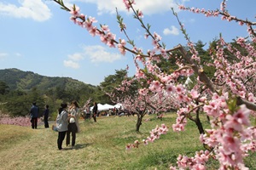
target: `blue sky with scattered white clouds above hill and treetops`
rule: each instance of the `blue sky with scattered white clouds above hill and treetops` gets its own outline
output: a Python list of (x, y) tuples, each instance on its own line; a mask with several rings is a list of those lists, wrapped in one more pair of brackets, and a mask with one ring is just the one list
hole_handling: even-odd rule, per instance
[[(108, 25), (116, 38), (124, 38), (116, 21), (116, 8), (124, 18), (129, 37), (143, 52), (152, 49), (145, 31), (122, 0), (63, 0), (68, 7), (77, 4), (80, 12), (95, 17), (97, 23)], [(180, 11), (177, 4), (186, 7), (217, 9), (221, 0), (136, 0), (135, 8), (143, 11), (143, 20), (152, 32), (162, 37), (166, 48), (186, 45), (177, 19), (192, 42), (207, 44), (220, 33), (231, 42), (236, 37), (246, 37), (247, 27), (236, 22), (207, 18), (202, 14)], [(231, 15), (255, 22), (255, 0), (230, 0), (227, 9)], [(104, 78), (129, 65), (129, 75), (135, 74), (133, 55), (119, 54), (118, 48), (108, 48), (99, 37), (73, 24), (70, 14), (51, 0), (0, 0), (0, 70), (17, 68), (47, 77), (71, 77), (81, 82), (100, 85)], [(207, 45), (206, 45), (207, 47)]]

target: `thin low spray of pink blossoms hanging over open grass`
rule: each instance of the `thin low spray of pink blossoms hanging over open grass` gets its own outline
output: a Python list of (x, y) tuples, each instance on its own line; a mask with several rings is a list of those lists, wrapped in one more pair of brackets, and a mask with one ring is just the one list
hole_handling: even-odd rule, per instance
[(160, 139), (161, 134), (166, 134), (168, 132), (168, 127), (165, 124), (162, 124), (160, 127), (156, 126), (150, 132), (150, 135), (147, 139), (143, 139), (142, 142), (135, 140), (133, 144), (126, 144), (126, 150), (130, 150), (131, 148), (138, 148), (139, 144), (148, 144), (148, 142), (153, 143), (155, 139)]

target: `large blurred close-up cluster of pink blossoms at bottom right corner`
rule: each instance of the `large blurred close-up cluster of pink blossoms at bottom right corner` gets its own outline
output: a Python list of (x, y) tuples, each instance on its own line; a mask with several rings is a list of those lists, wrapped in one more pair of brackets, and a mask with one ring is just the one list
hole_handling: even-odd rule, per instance
[[(214, 148), (221, 169), (235, 167), (244, 169), (243, 157), (247, 151), (255, 148), (254, 128), (250, 126), (251, 111), (241, 105), (237, 111), (226, 110), (213, 120), (214, 129), (208, 129), (201, 134), (201, 142)], [(255, 136), (254, 136), (255, 137)]]

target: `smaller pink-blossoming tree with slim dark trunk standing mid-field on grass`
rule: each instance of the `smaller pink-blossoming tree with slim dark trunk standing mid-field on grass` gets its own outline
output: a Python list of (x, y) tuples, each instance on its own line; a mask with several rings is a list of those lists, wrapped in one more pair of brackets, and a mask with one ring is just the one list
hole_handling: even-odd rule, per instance
[[(133, 84), (137, 84), (136, 77), (128, 78), (115, 88), (118, 93), (109, 94), (113, 99), (113, 103), (122, 103), (125, 110), (137, 115), (136, 131), (139, 131), (143, 122), (143, 117), (150, 112), (170, 111), (177, 109), (177, 103), (172, 95), (166, 94), (166, 90), (160, 89), (158, 93), (151, 93), (148, 89), (148, 84), (140, 81), (137, 85), (139, 88), (134, 92)], [(132, 93), (131, 93), (132, 92)], [(117, 95), (119, 94), (119, 96)]]

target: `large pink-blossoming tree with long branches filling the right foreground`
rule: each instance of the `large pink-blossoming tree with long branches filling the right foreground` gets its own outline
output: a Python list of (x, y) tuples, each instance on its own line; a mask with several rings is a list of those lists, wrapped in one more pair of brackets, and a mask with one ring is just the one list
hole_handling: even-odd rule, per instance
[[(177, 110), (176, 124), (172, 125), (174, 131), (183, 131), (188, 120), (200, 120), (199, 112), (202, 111), (211, 119), (211, 129), (201, 132), (201, 142), (206, 144), (207, 150), (195, 153), (194, 157), (178, 156), (177, 167), (181, 169), (205, 169), (209, 157), (218, 160), (219, 169), (246, 169), (243, 162), (245, 156), (249, 156), (249, 150), (255, 151), (256, 148), (256, 128), (250, 122), (250, 116), (254, 117), (255, 105), (255, 42), (256, 30), (255, 22), (241, 20), (232, 16), (226, 9), (226, 1), (221, 3), (221, 8), (216, 10), (205, 10), (200, 8), (186, 8), (179, 6), (180, 9), (189, 12), (204, 14), (207, 17), (221, 16), (222, 20), (235, 21), (239, 25), (246, 25), (248, 38), (238, 37), (236, 48), (231, 43), (225, 42), (223, 37), (219, 37), (215, 48), (212, 48), (212, 61), (205, 65), (215, 67), (214, 77), (207, 77), (201, 65), (201, 58), (195, 49), (195, 43), (189, 40), (183, 24), (177, 17), (177, 22), (181, 26), (181, 31), (187, 40), (189, 51), (184, 50), (181, 45), (172, 49), (166, 49), (161, 37), (150, 31), (150, 26), (143, 22), (143, 12), (133, 7), (134, 0), (123, 0), (127, 10), (132, 10), (134, 18), (140, 22), (145, 30), (145, 37), (150, 38), (154, 47), (145, 53), (143, 49), (137, 48), (135, 43), (126, 34), (126, 26), (122, 17), (117, 12), (117, 19), (120, 30), (124, 33), (125, 39), (116, 40), (115, 35), (108, 26), (95, 26), (96, 19), (80, 14), (79, 7), (73, 5), (67, 8), (62, 0), (54, 0), (59, 3), (61, 8), (70, 12), (71, 20), (78, 26), (85, 28), (95, 37), (99, 36), (103, 43), (110, 48), (119, 48), (121, 54), (130, 52), (136, 57), (137, 81), (147, 82), (143, 86), (144, 94), (160, 94), (163, 91), (172, 96), (179, 106)], [(132, 48), (128, 48), (126, 43), (130, 43)], [(239, 49), (245, 53), (241, 53)], [(173, 59), (174, 52), (179, 51), (181, 58), (177, 58), (177, 70), (172, 73), (162, 71), (156, 64), (161, 59)], [(234, 59), (227, 59), (224, 51), (234, 56)], [(138, 65), (137, 63), (140, 63)], [(195, 86), (187, 88), (183, 83), (178, 82), (178, 77), (197, 77)], [(140, 99), (140, 98), (138, 98)], [(153, 133), (165, 132), (166, 126), (157, 127)], [(160, 129), (160, 131), (159, 131)], [(164, 129), (164, 130), (163, 130)], [(136, 142), (137, 145), (137, 142)], [(177, 167), (171, 167), (176, 169)]]

